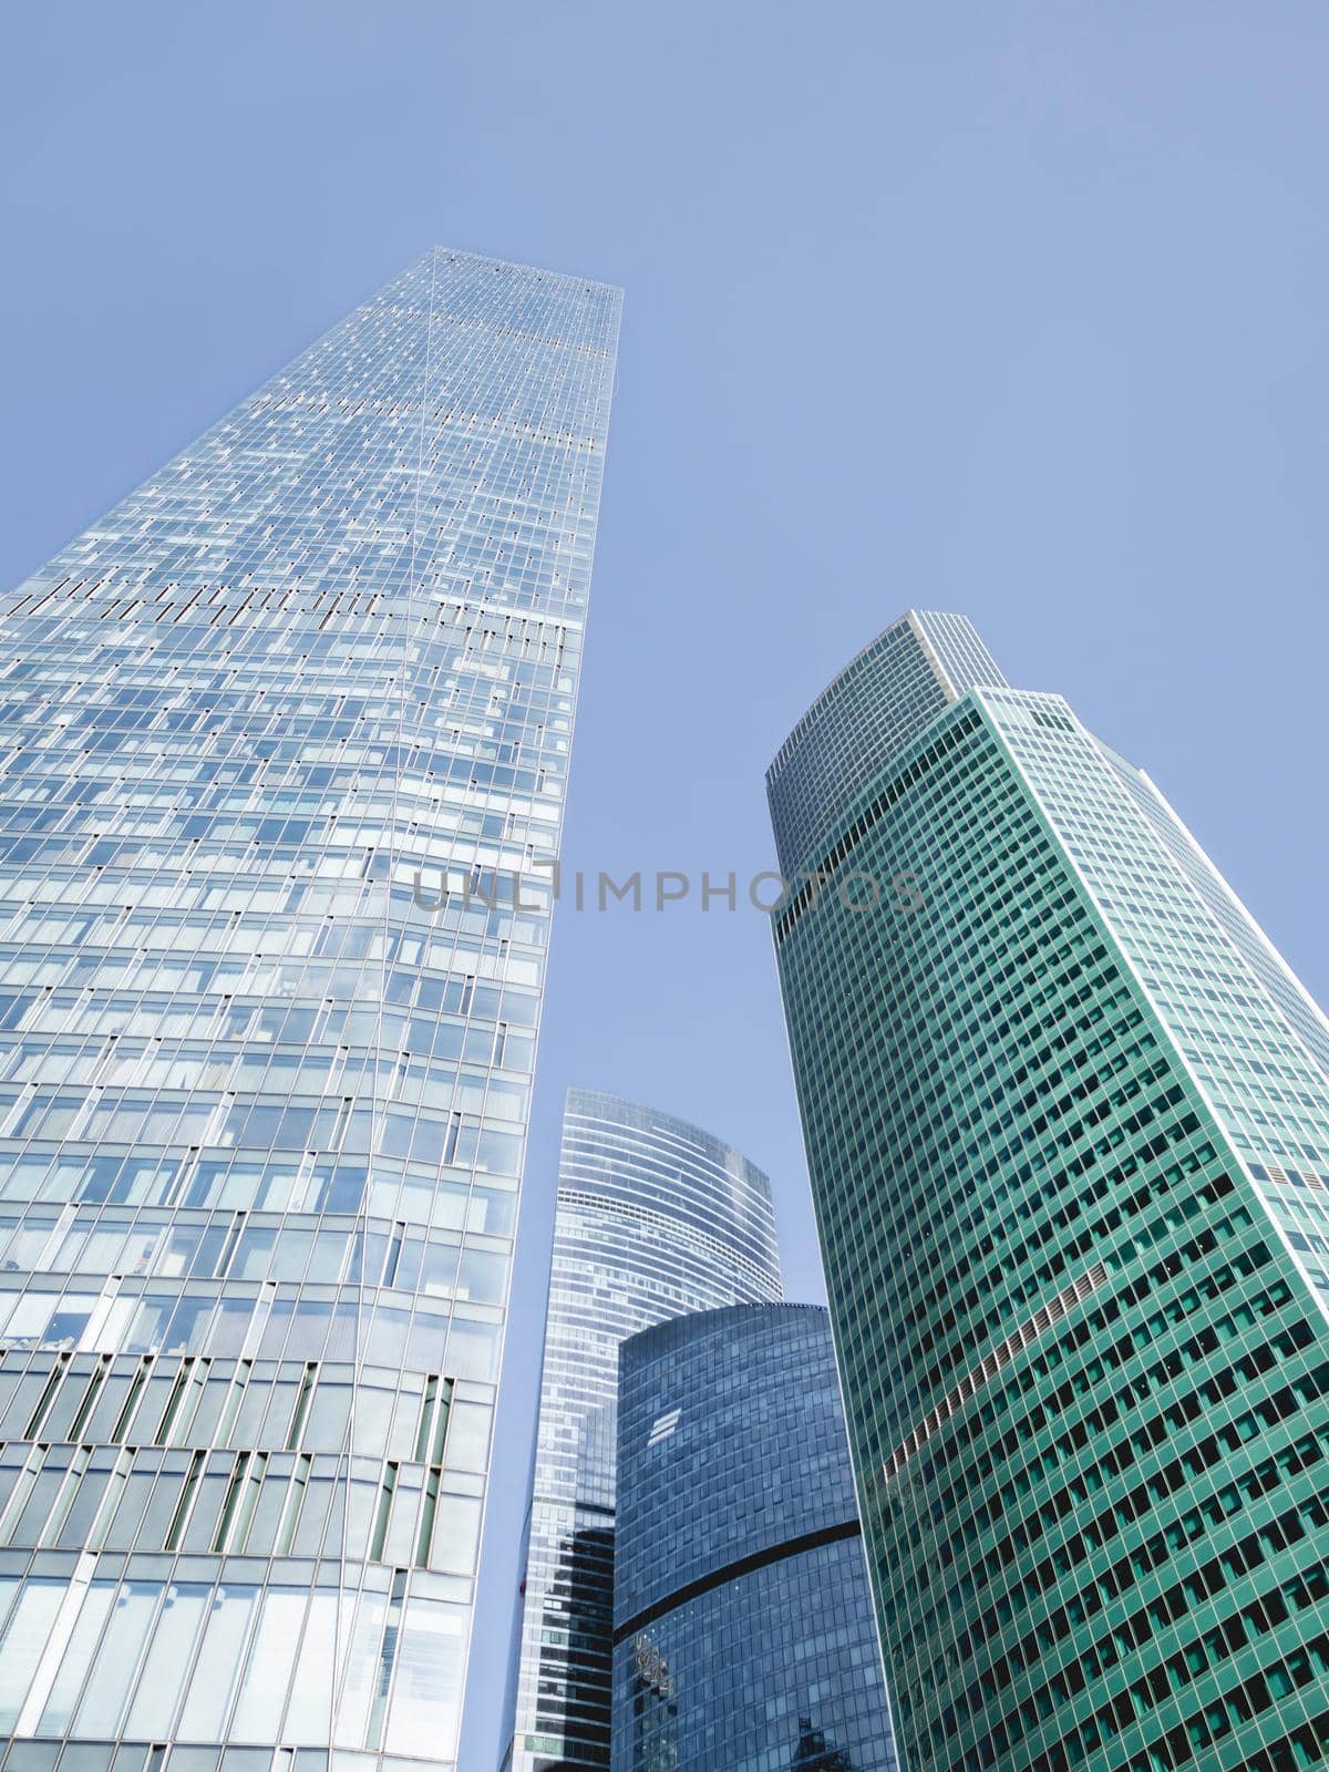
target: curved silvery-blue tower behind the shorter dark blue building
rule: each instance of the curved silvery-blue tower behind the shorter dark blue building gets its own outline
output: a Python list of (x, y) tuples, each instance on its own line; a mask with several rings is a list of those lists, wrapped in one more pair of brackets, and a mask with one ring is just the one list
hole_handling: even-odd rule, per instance
[(673, 1115), (569, 1092), (505, 1765), (610, 1765), (620, 1341), (684, 1311), (778, 1297), (760, 1170)]

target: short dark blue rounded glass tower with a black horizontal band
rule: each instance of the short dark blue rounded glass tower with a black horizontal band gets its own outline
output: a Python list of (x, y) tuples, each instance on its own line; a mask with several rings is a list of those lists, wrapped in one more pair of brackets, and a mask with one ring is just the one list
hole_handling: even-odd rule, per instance
[(824, 1310), (624, 1343), (613, 1611), (613, 1772), (895, 1772)]

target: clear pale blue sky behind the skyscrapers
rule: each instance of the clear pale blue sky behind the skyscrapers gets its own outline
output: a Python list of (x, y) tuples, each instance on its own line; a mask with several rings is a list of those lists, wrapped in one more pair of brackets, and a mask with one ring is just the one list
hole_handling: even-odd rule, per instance
[[(565, 858), (751, 875), (909, 604), (1162, 785), (1322, 998), (1329, 12), (131, 0), (0, 27), (0, 583), (432, 243), (627, 289)], [(494, 1765), (569, 1083), (819, 1265), (764, 920), (565, 913), (462, 1765)]]

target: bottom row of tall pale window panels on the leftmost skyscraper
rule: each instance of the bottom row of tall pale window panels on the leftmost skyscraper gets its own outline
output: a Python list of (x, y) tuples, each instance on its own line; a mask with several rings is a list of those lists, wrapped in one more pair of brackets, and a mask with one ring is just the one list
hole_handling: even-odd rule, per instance
[(342, 1591), (101, 1579), (89, 1559), (73, 1579), (0, 1575), (0, 1731), (450, 1758), (464, 1614), (447, 1577), (370, 1574)]

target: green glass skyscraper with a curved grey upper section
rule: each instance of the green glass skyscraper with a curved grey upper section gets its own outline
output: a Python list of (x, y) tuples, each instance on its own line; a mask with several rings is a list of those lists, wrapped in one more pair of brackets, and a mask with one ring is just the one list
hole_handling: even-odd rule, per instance
[(886, 629), (769, 796), (905, 1763), (1318, 1763), (1324, 1017), (1152, 781), (959, 617)]

